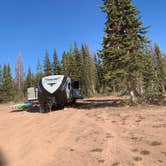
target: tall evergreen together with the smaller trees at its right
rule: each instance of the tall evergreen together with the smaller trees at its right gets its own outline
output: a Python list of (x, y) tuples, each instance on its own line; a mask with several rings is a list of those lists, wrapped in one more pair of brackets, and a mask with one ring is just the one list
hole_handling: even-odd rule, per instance
[(132, 103), (158, 102), (166, 88), (166, 59), (159, 46), (150, 48), (140, 12), (132, 0), (103, 0), (101, 9), (105, 80), (113, 91), (129, 94)]

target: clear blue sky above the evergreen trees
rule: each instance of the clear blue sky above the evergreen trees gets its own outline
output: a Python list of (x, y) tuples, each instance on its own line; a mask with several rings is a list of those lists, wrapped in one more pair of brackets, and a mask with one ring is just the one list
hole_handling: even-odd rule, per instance
[[(148, 37), (166, 53), (166, 1), (134, 0), (145, 25), (151, 25)], [(86, 42), (92, 52), (101, 48), (105, 15), (101, 0), (4, 0), (0, 4), (0, 64), (14, 66), (19, 50), (25, 71), (35, 71), (37, 59), (43, 63), (45, 50), (52, 57), (68, 50), (74, 41)]]

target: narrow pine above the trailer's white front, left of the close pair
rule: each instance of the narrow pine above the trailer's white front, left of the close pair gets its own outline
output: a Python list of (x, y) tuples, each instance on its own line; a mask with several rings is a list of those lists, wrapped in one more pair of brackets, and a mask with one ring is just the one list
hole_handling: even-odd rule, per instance
[(49, 54), (47, 50), (46, 50), (45, 59), (44, 59), (44, 73), (45, 73), (45, 76), (49, 76), (52, 74), (51, 62), (50, 62)]

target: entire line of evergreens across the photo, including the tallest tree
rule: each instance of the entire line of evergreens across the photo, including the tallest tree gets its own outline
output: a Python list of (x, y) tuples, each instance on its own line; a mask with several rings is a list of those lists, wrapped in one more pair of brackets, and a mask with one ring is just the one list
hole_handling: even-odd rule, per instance
[(59, 60), (48, 51), (36, 72), (30, 66), (24, 74), (21, 56), (12, 78), (10, 65), (0, 68), (0, 102), (22, 99), (26, 89), (37, 86), (43, 76), (63, 74), (81, 81), (83, 96), (100, 94), (130, 95), (132, 103), (159, 102), (166, 92), (166, 57), (158, 45), (146, 37), (138, 9), (132, 0), (103, 0), (106, 14), (103, 49), (92, 55), (86, 44), (70, 47)]

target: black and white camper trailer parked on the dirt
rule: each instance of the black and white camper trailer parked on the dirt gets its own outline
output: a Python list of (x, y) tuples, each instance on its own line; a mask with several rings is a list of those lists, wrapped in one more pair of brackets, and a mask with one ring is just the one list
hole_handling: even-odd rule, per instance
[(79, 81), (64, 75), (43, 77), (38, 84), (38, 101), (42, 111), (53, 107), (64, 107), (66, 104), (82, 98)]

